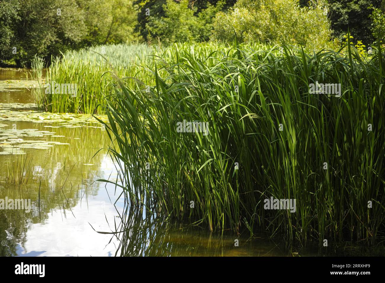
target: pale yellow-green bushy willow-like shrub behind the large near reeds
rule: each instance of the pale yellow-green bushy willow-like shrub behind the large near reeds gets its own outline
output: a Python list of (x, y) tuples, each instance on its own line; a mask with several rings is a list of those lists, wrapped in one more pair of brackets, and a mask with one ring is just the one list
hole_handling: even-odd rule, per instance
[(285, 42), (320, 49), (331, 35), (323, 4), (299, 8), (297, 0), (238, 0), (229, 12), (217, 14), (213, 36), (232, 40), (235, 30), (242, 42)]

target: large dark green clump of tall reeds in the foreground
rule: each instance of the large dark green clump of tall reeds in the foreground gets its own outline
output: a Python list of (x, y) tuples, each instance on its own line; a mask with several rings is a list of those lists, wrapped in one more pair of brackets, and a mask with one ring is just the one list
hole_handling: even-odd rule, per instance
[[(350, 44), (312, 54), (247, 45), (212, 51), (176, 52), (164, 58), (169, 64), (147, 68), (154, 80), (147, 92), (112, 72), (105, 127), (131, 205), (150, 201), (210, 230), (261, 229), (289, 241), (383, 239), (381, 51), (370, 59)], [(316, 81), (340, 83), (341, 97), (310, 94)], [(209, 134), (177, 132), (183, 120), (208, 122)], [(271, 196), (296, 199), (296, 212), (265, 210)]]

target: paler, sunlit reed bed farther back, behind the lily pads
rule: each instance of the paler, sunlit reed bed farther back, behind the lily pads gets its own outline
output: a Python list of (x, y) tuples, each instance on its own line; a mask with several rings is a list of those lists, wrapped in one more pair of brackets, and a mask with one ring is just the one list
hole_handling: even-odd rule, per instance
[[(191, 56), (206, 57), (220, 44), (198, 45), (174, 44), (162, 48), (146, 44), (102, 45), (68, 51), (62, 58), (52, 60), (47, 69), (46, 83), (77, 84), (77, 95), (45, 94), (42, 88), (34, 89), (37, 105), (49, 112), (101, 113), (106, 99), (113, 90), (112, 82), (104, 75), (114, 67), (119, 77), (126, 77), (131, 87), (140, 82), (141, 89), (155, 84), (151, 69), (155, 64), (164, 65), (164, 60), (174, 60), (177, 53), (188, 52)], [(150, 75), (149, 75), (150, 73)], [(166, 75), (166, 73), (164, 73)]]

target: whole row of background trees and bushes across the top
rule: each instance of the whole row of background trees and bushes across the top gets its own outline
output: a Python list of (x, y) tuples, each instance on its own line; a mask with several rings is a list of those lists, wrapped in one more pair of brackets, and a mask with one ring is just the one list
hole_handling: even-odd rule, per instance
[(0, 0), (0, 64), (100, 44), (229, 41), (234, 30), (317, 49), (349, 28), (368, 45), (385, 38), (384, 10), (385, 0)]

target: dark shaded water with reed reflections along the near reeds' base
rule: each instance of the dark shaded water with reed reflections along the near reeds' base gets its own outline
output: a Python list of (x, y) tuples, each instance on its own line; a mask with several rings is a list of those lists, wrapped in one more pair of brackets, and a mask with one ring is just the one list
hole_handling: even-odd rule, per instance
[[(126, 203), (125, 203), (126, 204)], [(330, 243), (320, 247), (318, 241), (306, 245), (288, 243), (284, 237), (269, 238), (260, 231), (249, 238), (247, 233), (232, 231), (212, 233), (172, 219), (157, 217), (144, 209), (124, 206), (123, 213), (109, 229), (94, 227), (99, 234), (110, 235), (116, 246), (114, 256), (384, 256), (383, 246), (370, 247), (356, 243)], [(118, 211), (117, 211), (118, 212)], [(116, 227), (116, 228), (114, 228)], [(238, 242), (238, 245), (236, 245)]]

